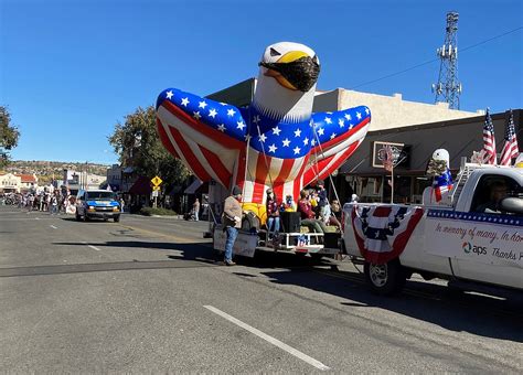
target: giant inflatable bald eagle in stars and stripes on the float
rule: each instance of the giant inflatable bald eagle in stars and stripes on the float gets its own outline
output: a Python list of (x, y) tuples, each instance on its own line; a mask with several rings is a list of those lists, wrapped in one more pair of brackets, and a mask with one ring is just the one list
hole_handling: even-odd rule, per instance
[(200, 180), (241, 186), (244, 202), (264, 204), (268, 188), (297, 199), (354, 152), (371, 120), (364, 106), (312, 113), (319, 73), (314, 51), (281, 42), (265, 50), (247, 107), (168, 88), (157, 101), (161, 141)]

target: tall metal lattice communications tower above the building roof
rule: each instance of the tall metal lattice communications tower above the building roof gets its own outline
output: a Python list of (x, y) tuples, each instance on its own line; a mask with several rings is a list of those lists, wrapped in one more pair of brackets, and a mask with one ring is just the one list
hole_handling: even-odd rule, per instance
[(447, 13), (445, 43), (436, 50), (436, 53), (441, 63), (438, 83), (433, 84), (433, 93), (436, 93), (435, 103), (447, 101), (450, 109), (459, 109), (462, 87), (458, 82), (458, 12)]

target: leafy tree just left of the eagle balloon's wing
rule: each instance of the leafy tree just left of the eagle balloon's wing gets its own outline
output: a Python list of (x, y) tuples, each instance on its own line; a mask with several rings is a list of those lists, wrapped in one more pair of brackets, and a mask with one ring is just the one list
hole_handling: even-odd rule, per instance
[(152, 106), (146, 109), (139, 107), (125, 117), (124, 124), (116, 124), (109, 143), (119, 156), (121, 165), (134, 167), (147, 178), (159, 175), (168, 190), (190, 175), (185, 165), (161, 144)]

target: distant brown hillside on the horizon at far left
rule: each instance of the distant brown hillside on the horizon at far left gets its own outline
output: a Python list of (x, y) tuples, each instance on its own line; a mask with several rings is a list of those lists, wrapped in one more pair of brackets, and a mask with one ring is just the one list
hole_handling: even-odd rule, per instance
[(75, 170), (78, 172), (86, 171), (87, 173), (106, 175), (107, 164), (96, 163), (76, 163), (64, 161), (43, 161), (43, 160), (14, 160), (6, 168), (10, 173), (34, 173), (42, 181), (51, 181), (53, 174), (55, 179), (62, 179), (64, 169)]

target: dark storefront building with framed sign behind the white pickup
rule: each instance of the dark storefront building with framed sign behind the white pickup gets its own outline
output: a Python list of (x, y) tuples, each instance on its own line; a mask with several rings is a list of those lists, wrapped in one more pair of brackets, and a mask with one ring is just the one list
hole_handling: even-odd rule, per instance
[[(521, 150), (523, 110), (513, 110), (513, 116)], [(500, 153), (509, 113), (493, 114), (491, 117)], [(391, 143), (403, 159), (394, 169), (394, 202), (421, 203), (423, 190), (431, 183), (426, 178), (426, 169), (433, 152), (436, 149), (449, 151), (450, 170), (455, 178), (461, 159), (466, 157), (470, 161), (473, 152), (483, 148), (483, 124), (484, 115), (370, 131), (357, 150), (339, 169), (337, 188), (340, 186), (344, 200), (354, 192), (364, 202), (391, 202), (391, 172), (386, 172), (378, 160), (380, 148)]]

